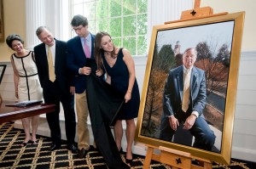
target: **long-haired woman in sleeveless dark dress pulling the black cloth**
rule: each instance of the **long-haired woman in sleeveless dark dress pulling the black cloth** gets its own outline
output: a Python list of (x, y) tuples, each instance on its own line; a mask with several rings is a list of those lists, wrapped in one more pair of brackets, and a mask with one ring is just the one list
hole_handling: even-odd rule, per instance
[(98, 68), (103, 67), (107, 74), (106, 82), (125, 96), (125, 104), (123, 104), (120, 110), (113, 131), (117, 147), (121, 150), (123, 137), (122, 120), (126, 121), (127, 148), (125, 158), (126, 162), (131, 162), (131, 147), (136, 130), (134, 118), (137, 118), (140, 104), (134, 60), (127, 49), (114, 47), (109, 34), (103, 31), (98, 32), (95, 37), (95, 58)]

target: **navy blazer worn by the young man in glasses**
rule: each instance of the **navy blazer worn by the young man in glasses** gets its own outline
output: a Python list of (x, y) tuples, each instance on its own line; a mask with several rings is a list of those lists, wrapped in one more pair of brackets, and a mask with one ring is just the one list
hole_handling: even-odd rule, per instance
[[(95, 35), (91, 34), (91, 54), (90, 59), (94, 59), (94, 39)], [(86, 59), (80, 37), (73, 37), (67, 41), (67, 67), (74, 75), (74, 85), (76, 93), (83, 93), (86, 88), (86, 76), (79, 74), (79, 68), (90, 66), (89, 60)]]

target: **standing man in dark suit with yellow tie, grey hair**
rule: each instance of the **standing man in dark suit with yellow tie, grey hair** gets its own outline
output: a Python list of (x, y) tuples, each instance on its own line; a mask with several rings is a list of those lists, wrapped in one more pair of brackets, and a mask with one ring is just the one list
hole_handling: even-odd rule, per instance
[(38, 27), (36, 34), (42, 42), (34, 48), (34, 53), (39, 80), (43, 87), (44, 102), (55, 104), (55, 111), (46, 114), (52, 139), (50, 150), (61, 148), (59, 119), (61, 102), (65, 115), (67, 149), (77, 153), (74, 142), (76, 134), (74, 87), (71, 85), (72, 76), (67, 71), (67, 43), (56, 40), (46, 26)]

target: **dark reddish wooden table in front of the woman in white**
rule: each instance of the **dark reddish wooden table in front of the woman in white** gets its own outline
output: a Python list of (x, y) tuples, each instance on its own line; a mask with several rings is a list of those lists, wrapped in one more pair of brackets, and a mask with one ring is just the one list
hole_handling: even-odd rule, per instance
[(0, 124), (55, 111), (55, 104), (35, 104), (27, 107), (5, 106), (6, 104), (14, 103), (14, 101), (3, 100), (2, 104), (0, 104)]

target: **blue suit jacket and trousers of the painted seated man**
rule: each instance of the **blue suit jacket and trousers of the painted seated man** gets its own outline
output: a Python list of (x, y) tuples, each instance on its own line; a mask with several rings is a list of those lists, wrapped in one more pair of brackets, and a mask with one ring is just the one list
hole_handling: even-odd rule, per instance
[(211, 150), (215, 142), (215, 135), (202, 115), (207, 99), (205, 72), (193, 66), (190, 78), (189, 109), (183, 112), (183, 65), (170, 70), (164, 89), (164, 113), (161, 119), (160, 138), (172, 142), (172, 136), (175, 131), (170, 127), (169, 117), (171, 115), (174, 115), (182, 125), (181, 122), (186, 121), (192, 111), (197, 111), (199, 116), (196, 118), (194, 126), (189, 129), (191, 134), (195, 136), (193, 146), (199, 149)]

